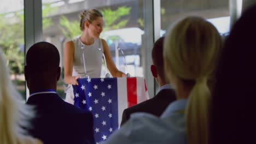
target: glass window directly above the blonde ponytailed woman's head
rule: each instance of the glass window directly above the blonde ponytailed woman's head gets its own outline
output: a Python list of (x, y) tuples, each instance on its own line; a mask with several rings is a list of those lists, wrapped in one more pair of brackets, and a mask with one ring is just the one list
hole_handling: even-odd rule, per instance
[(222, 35), (229, 32), (229, 1), (161, 0), (161, 34), (164, 34), (173, 22), (189, 15), (204, 17), (212, 22)]

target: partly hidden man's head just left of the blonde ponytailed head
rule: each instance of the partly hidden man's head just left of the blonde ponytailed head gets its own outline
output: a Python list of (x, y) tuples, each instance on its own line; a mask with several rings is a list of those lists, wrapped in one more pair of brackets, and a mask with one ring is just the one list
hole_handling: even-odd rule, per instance
[(162, 51), (164, 47), (164, 37), (159, 38), (155, 41), (154, 47), (152, 49), (152, 61), (151, 72), (155, 77), (156, 81), (159, 83), (160, 87), (168, 83), (165, 77), (164, 70), (164, 57), (162, 56)]

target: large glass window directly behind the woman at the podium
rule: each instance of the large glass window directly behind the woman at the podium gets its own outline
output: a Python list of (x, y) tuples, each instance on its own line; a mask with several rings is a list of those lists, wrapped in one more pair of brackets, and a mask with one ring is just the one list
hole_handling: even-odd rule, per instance
[[(142, 40), (144, 35), (143, 0), (139, 1), (49, 1), (42, 0), (44, 40), (53, 43), (61, 54), (62, 77), (57, 87), (65, 98), (63, 81), (63, 48), (67, 41), (79, 37), (79, 14), (96, 8), (103, 14), (104, 27), (101, 38), (108, 43), (110, 53), (117, 68), (131, 76), (144, 76), (144, 54)], [(103, 60), (102, 60), (103, 61)], [(101, 77), (106, 74), (102, 65)]]

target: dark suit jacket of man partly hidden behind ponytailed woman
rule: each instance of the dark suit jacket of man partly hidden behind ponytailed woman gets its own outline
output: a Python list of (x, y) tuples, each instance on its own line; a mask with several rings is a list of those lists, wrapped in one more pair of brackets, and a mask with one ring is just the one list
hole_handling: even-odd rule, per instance
[(166, 107), (174, 100), (176, 100), (174, 89), (162, 89), (155, 97), (125, 109), (121, 125), (128, 121), (130, 115), (135, 112), (146, 112), (160, 117)]

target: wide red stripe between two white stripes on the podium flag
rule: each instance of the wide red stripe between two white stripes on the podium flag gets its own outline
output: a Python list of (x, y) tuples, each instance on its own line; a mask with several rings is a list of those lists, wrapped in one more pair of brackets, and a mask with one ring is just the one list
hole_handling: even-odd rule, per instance
[(137, 105), (137, 80), (136, 77), (127, 78), (127, 102), (128, 107)]

